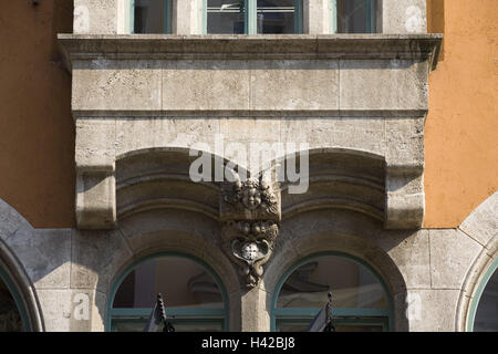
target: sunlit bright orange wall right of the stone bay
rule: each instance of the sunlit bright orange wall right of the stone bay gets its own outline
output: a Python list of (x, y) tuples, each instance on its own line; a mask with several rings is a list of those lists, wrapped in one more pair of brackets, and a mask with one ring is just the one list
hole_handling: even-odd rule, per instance
[(450, 228), (498, 189), (498, 1), (427, 9), (429, 31), (445, 40), (429, 80), (424, 227)]

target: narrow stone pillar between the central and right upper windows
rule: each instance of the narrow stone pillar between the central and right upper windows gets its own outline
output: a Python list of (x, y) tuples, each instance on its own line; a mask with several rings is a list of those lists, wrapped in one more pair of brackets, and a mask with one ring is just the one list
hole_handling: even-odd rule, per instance
[(330, 0), (304, 0), (303, 1), (303, 33), (305, 34), (330, 34)]

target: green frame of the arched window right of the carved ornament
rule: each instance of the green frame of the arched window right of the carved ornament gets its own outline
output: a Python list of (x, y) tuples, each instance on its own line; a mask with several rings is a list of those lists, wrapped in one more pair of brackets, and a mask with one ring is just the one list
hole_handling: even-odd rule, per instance
[(307, 322), (310, 323), (321, 309), (319, 308), (277, 308), (278, 298), (280, 291), (288, 280), (288, 278), (301, 266), (318, 259), (321, 257), (340, 257), (352, 260), (360, 266), (365, 267), (380, 282), (382, 289), (384, 290), (387, 306), (386, 309), (341, 309), (334, 308), (332, 303), (332, 319), (338, 321), (336, 323), (351, 323), (351, 324), (362, 324), (369, 322), (367, 324), (380, 324), (383, 326), (385, 332), (391, 332), (394, 329), (394, 310), (393, 310), (393, 299), (388, 291), (386, 283), (383, 278), (373, 269), (370, 264), (365, 263), (363, 260), (343, 252), (336, 251), (325, 251), (313, 253), (308, 257), (300, 259), (294, 262), (284, 273), (280, 277), (277, 287), (274, 288), (273, 296), (271, 300), (271, 313), (270, 313), (270, 331), (276, 332), (278, 330), (277, 321), (288, 321), (288, 322)]

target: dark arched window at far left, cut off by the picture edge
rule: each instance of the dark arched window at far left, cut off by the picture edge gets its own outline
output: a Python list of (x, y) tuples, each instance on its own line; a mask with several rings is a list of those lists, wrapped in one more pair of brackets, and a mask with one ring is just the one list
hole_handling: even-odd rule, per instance
[(0, 268), (0, 332), (27, 332), (27, 311), (15, 285)]

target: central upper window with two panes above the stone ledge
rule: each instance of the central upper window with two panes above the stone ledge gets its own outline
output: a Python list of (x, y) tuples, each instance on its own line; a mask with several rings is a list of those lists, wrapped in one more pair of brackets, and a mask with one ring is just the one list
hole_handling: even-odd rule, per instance
[(301, 33), (302, 0), (204, 0), (204, 33)]

